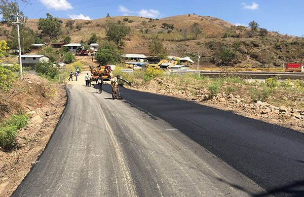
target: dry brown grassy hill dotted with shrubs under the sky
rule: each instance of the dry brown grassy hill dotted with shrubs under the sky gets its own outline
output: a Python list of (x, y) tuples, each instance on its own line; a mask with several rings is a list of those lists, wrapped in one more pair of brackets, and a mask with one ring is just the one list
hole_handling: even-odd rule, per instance
[[(62, 21), (62, 40), (69, 35), (71, 42), (88, 40), (95, 33), (105, 39), (107, 21), (121, 21), (131, 28), (126, 39), (125, 53), (143, 53), (148, 55), (147, 45), (151, 38), (163, 40), (169, 55), (191, 56), (196, 59), (201, 54), (203, 66), (231, 65), (238, 67), (282, 67), (285, 62), (301, 62), (304, 56), (303, 41), (300, 38), (280, 35), (269, 31), (266, 35), (256, 32), (250, 36), (250, 29), (239, 30), (237, 26), (224, 20), (198, 15), (180, 15), (162, 19), (149, 19), (136, 16), (107, 17), (95, 20), (74, 20), (74, 28), (67, 32)], [(37, 31), (38, 19), (28, 20), (26, 25)], [(163, 24), (174, 25), (173, 29)], [(191, 25), (198, 23), (202, 34), (195, 39)], [(1, 32), (0, 32), (1, 33)], [(2, 37), (1, 37), (2, 36)], [(0, 35), (0, 39), (5, 38)], [(227, 57), (226, 57), (227, 56)], [(223, 61), (224, 58), (224, 61)], [(228, 59), (225, 59), (228, 58)]]

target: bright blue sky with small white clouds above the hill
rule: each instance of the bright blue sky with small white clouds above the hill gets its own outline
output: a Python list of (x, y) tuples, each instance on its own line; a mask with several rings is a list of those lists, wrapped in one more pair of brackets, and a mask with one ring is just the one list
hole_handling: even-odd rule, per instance
[[(151, 18), (196, 13), (214, 16), (233, 24), (247, 25), (255, 20), (260, 27), (281, 34), (304, 35), (303, 0), (18, 0), (28, 18), (45, 17), (49, 12), (59, 18), (96, 19), (106, 16), (134, 15)], [(45, 8), (46, 7), (46, 8)], [(43, 8), (45, 8), (43, 10)]]

